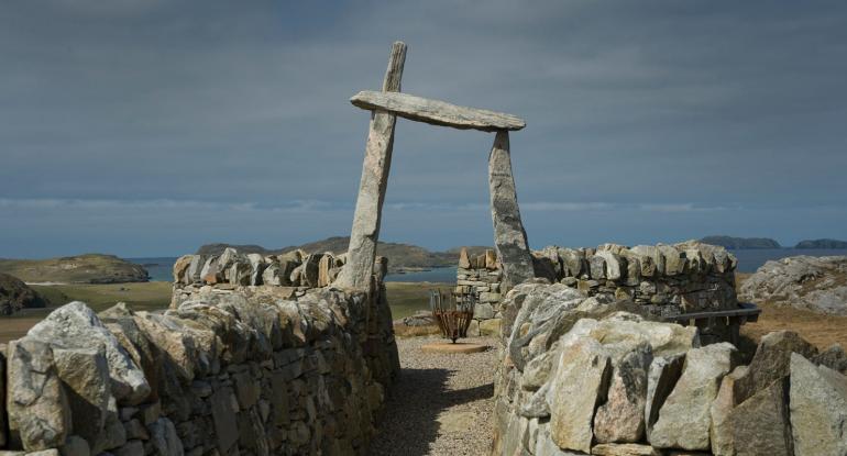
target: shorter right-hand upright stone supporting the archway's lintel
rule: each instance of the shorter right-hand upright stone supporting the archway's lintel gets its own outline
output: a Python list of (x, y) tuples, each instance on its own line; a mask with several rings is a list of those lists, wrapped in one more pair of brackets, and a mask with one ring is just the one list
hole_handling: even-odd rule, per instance
[(494, 223), (494, 246), (503, 264), (503, 292), (535, 277), (527, 233), (520, 222), (518, 196), (512, 175), (509, 134), (497, 132), (488, 155), (488, 191)]

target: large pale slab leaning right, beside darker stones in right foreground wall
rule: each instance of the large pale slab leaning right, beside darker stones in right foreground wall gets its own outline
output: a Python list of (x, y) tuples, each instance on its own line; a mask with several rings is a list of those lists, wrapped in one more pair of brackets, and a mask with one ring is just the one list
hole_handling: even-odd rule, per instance
[(721, 379), (735, 367), (736, 349), (719, 343), (691, 349), (682, 376), (659, 410), (650, 444), (659, 448), (708, 449), (710, 407)]

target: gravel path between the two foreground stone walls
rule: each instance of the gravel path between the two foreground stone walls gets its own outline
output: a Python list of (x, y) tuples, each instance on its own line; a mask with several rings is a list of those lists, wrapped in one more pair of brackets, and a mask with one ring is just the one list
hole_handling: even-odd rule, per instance
[(495, 341), (471, 337), (492, 348), (470, 355), (429, 354), (436, 337), (398, 338), (403, 372), (392, 389), (372, 455), (487, 455), (492, 442)]

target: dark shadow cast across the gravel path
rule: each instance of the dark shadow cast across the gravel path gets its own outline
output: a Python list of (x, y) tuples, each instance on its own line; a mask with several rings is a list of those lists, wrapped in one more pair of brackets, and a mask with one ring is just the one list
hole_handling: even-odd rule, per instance
[(443, 411), (494, 396), (494, 383), (448, 390), (450, 375), (449, 369), (403, 369), (385, 403), (370, 454), (429, 455), (430, 444), (442, 425), (438, 419)]

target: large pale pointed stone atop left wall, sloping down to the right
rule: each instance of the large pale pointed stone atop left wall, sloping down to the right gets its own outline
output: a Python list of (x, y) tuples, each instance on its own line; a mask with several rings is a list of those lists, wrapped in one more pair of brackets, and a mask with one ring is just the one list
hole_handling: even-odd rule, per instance
[(56, 309), (28, 334), (66, 347), (96, 348), (102, 345), (109, 364), (112, 394), (125, 403), (139, 403), (150, 394), (144, 372), (84, 302), (74, 301)]

